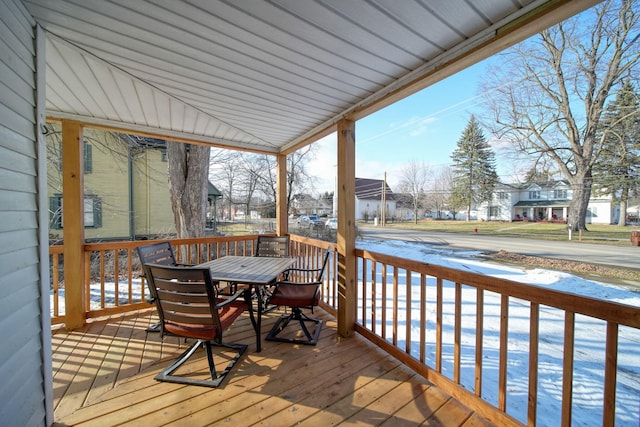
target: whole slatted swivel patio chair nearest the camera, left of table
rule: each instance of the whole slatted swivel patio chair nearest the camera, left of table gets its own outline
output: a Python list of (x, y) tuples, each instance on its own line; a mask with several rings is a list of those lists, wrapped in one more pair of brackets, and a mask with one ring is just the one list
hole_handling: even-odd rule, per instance
[[(146, 264), (149, 283), (156, 295), (156, 308), (160, 316), (161, 335), (195, 339), (191, 347), (167, 366), (155, 379), (180, 384), (218, 387), (247, 349), (246, 344), (226, 344), (223, 332), (245, 311), (250, 309), (248, 291), (238, 292), (231, 298), (218, 298), (218, 291), (207, 268), (172, 267)], [(243, 299), (240, 299), (243, 297)], [(216, 372), (212, 346), (234, 350), (227, 367)], [(189, 358), (204, 347), (211, 379), (175, 375)]]

